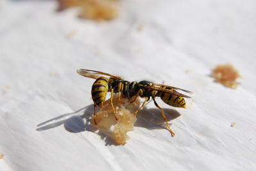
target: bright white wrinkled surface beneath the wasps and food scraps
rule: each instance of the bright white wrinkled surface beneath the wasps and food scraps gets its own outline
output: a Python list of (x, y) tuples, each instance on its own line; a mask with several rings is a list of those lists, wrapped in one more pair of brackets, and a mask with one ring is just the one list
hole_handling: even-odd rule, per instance
[[(256, 2), (120, 3), (118, 19), (97, 23), (56, 13), (55, 1), (0, 1), (0, 170), (256, 170)], [(236, 90), (209, 77), (225, 63), (243, 76)], [(157, 99), (180, 114), (175, 137), (152, 102), (125, 145), (79, 130), (83, 111), (36, 131), (87, 105), (92, 113), (93, 80), (79, 68), (193, 91), (187, 109)]]

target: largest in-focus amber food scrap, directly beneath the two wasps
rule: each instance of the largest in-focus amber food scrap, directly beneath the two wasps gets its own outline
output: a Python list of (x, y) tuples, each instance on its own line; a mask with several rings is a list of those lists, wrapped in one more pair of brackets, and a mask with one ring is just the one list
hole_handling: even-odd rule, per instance
[(116, 144), (125, 144), (129, 138), (127, 132), (133, 130), (136, 121), (134, 112), (139, 108), (140, 100), (137, 98), (134, 103), (130, 103), (127, 98), (121, 98), (119, 101), (117, 96), (114, 96), (113, 105), (116, 108), (117, 121), (110, 100), (107, 100), (95, 115), (97, 124), (94, 124), (93, 119), (92, 124), (104, 134), (108, 135), (108, 137), (113, 138)]

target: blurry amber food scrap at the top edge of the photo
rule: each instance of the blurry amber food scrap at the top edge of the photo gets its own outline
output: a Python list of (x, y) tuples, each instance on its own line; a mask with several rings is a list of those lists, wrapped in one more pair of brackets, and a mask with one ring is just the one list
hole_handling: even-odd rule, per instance
[(84, 0), (80, 4), (79, 17), (92, 20), (111, 20), (118, 15), (118, 4), (115, 0)]

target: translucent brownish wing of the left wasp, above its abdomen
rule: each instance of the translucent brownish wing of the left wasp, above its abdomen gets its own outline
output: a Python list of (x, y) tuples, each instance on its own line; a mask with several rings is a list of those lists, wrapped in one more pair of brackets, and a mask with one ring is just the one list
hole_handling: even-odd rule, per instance
[(77, 73), (79, 75), (82, 75), (83, 77), (89, 77), (89, 78), (94, 78), (94, 79), (99, 78), (100, 75), (108, 75), (109, 77), (113, 77), (113, 78), (122, 80), (121, 77), (118, 77), (116, 75), (111, 75), (110, 73), (104, 73), (102, 71), (80, 69), (80, 70), (77, 70)]

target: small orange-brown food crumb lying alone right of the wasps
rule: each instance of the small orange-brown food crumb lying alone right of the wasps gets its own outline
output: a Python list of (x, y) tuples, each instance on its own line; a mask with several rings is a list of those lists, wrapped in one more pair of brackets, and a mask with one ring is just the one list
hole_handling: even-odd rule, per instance
[(212, 70), (212, 77), (226, 87), (236, 88), (236, 78), (240, 77), (237, 70), (231, 64), (218, 65)]

